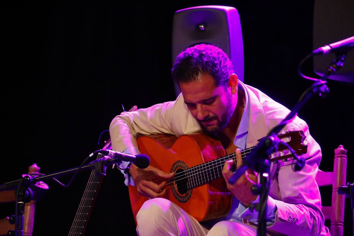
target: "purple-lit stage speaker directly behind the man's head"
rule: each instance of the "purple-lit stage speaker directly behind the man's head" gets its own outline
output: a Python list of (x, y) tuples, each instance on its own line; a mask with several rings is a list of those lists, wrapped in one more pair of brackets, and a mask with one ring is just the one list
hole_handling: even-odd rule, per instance
[[(172, 64), (178, 54), (196, 44), (213, 44), (231, 59), (244, 81), (244, 52), (240, 16), (234, 7), (197, 6), (175, 12), (172, 26)], [(175, 84), (176, 96), (181, 92)]]

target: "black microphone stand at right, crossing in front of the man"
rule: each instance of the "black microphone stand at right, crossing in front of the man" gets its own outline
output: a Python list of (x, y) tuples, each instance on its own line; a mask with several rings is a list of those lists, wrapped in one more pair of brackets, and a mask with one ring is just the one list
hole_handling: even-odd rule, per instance
[[(313, 53), (309, 54), (300, 64), (299, 69), (301, 69), (301, 65), (303, 62), (312, 56)], [(323, 80), (315, 79), (316, 82), (312, 86), (310, 86), (300, 97), (298, 102), (295, 104), (294, 108), (290, 111), (289, 115), (285, 117), (285, 119), (280, 122), (279, 125), (275, 126), (272, 130), (269, 131), (267, 136), (263, 138), (257, 146), (251, 151), (251, 153), (242, 160), (241, 167), (234, 173), (234, 175), (229, 179), (230, 184), (234, 184), (236, 180), (238, 180), (242, 174), (248, 168), (255, 170), (260, 173), (260, 184), (252, 187), (252, 193), (255, 195), (260, 194), (259, 203), (250, 204), (250, 209), (256, 210), (259, 212), (258, 214), (258, 228), (257, 235), (265, 236), (266, 235), (266, 212), (267, 212), (267, 199), (269, 192), (269, 174), (270, 174), (270, 162), (269, 156), (273, 151), (278, 149), (278, 144), (280, 143), (277, 134), (281, 131), (281, 129), (292, 120), (298, 113), (298, 111), (308, 102), (308, 100), (314, 95), (320, 96), (322, 98), (326, 97), (329, 94), (329, 88), (326, 86), (326, 79), (333, 73), (339, 70), (343, 64), (346, 53), (339, 53), (336, 56), (336, 59), (331, 63), (330, 67), (327, 69), (327, 73), (322, 77)], [(299, 74), (301, 72), (299, 71)], [(291, 151), (291, 150), (290, 150)], [(297, 157), (295, 155), (295, 157)], [(301, 158), (297, 158), (297, 163), (295, 164), (295, 169), (298, 171), (302, 169), (305, 161)]]

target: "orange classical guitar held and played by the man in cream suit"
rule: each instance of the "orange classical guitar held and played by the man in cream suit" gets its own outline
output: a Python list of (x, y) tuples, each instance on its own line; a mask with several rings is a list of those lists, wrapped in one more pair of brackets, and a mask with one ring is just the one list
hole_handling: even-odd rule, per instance
[[(302, 131), (278, 134), (278, 137), (297, 155), (307, 152)], [(142, 154), (150, 157), (150, 165), (175, 176), (166, 184), (164, 198), (176, 203), (198, 221), (226, 216), (231, 207), (232, 194), (228, 191), (222, 169), (226, 160), (234, 160), (232, 171), (236, 170), (236, 154), (225, 155), (219, 140), (203, 133), (188, 134), (176, 138), (172, 135), (156, 134), (137, 139)], [(241, 152), (247, 156), (253, 149)], [(293, 159), (289, 149), (281, 144), (278, 151), (270, 156), (273, 162)], [(129, 186), (129, 196), (133, 215), (149, 198), (138, 195), (135, 186)]]

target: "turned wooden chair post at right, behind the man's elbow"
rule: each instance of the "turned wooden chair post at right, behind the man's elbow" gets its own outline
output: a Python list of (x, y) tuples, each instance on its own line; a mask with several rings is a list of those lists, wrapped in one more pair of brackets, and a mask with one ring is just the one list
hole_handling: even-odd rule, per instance
[(334, 150), (334, 153), (333, 172), (324, 172), (319, 170), (316, 175), (316, 182), (318, 186), (332, 185), (332, 206), (322, 206), (322, 213), (324, 214), (326, 220), (331, 220), (331, 235), (342, 236), (345, 196), (339, 195), (337, 190), (342, 185), (347, 184), (347, 150), (344, 149), (342, 145), (339, 145), (338, 148)]

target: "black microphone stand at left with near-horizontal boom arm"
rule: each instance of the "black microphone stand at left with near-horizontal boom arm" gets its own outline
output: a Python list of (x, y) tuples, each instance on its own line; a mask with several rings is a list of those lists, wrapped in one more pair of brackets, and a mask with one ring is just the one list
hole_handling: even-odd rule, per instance
[(30, 175), (25, 175), (22, 179), (18, 179), (12, 182), (7, 182), (5, 184), (0, 185), (0, 192), (17, 189), (16, 213), (15, 213), (16, 215), (15, 216), (12, 215), (9, 218), (10, 224), (15, 224), (15, 231), (9, 230), (7, 232), (7, 235), (23, 236), (24, 206), (25, 203), (30, 202), (34, 198), (33, 191), (29, 187), (35, 185), (36, 182), (39, 181), (45, 182), (46, 180), (52, 180), (53, 178), (59, 178), (64, 175), (75, 174), (77, 172), (87, 171), (92, 169), (95, 169), (97, 175), (105, 175), (105, 170), (108, 165), (113, 165), (120, 162), (121, 160), (117, 158), (103, 157), (87, 165), (66, 169), (64, 171), (59, 171), (51, 174), (41, 175), (40, 177), (36, 177), (36, 178)]

